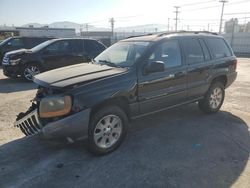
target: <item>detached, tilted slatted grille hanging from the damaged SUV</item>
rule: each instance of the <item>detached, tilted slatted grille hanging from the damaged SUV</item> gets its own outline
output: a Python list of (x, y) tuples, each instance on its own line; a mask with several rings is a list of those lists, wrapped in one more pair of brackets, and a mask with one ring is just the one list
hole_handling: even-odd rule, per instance
[(23, 117), (22, 119), (16, 121), (14, 123), (15, 127), (20, 128), (20, 130), (26, 135), (34, 135), (41, 132), (43, 128), (39, 118), (37, 109), (33, 110), (31, 113)]

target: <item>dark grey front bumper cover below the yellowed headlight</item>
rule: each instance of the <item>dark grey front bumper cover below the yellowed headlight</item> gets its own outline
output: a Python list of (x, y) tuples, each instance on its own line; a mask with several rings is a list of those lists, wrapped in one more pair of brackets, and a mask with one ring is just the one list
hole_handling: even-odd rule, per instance
[(46, 139), (70, 137), (72, 139), (86, 138), (90, 109), (80, 111), (68, 117), (48, 123), (42, 128), (42, 135)]

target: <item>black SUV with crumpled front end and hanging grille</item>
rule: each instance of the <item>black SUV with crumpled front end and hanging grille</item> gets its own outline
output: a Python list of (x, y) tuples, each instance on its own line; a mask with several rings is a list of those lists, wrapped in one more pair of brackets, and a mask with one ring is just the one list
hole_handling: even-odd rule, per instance
[(131, 119), (197, 101), (217, 112), (236, 66), (230, 46), (213, 33), (126, 39), (91, 63), (35, 76), (37, 95), (15, 126), (27, 136), (87, 138), (90, 151), (106, 154), (122, 143)]

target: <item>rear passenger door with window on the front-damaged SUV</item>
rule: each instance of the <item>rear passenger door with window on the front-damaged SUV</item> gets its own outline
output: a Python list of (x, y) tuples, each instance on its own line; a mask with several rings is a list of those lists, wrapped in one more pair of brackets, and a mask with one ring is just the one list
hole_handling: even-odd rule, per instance
[(209, 87), (209, 76), (213, 62), (203, 39), (184, 38), (181, 40), (184, 50), (188, 80), (188, 100), (202, 97)]

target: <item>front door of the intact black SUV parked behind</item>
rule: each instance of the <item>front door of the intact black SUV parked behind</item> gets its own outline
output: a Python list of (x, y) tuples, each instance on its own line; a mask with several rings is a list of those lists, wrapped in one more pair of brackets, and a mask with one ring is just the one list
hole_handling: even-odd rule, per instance
[(42, 50), (41, 58), (46, 69), (55, 69), (69, 65), (70, 42), (58, 40)]

